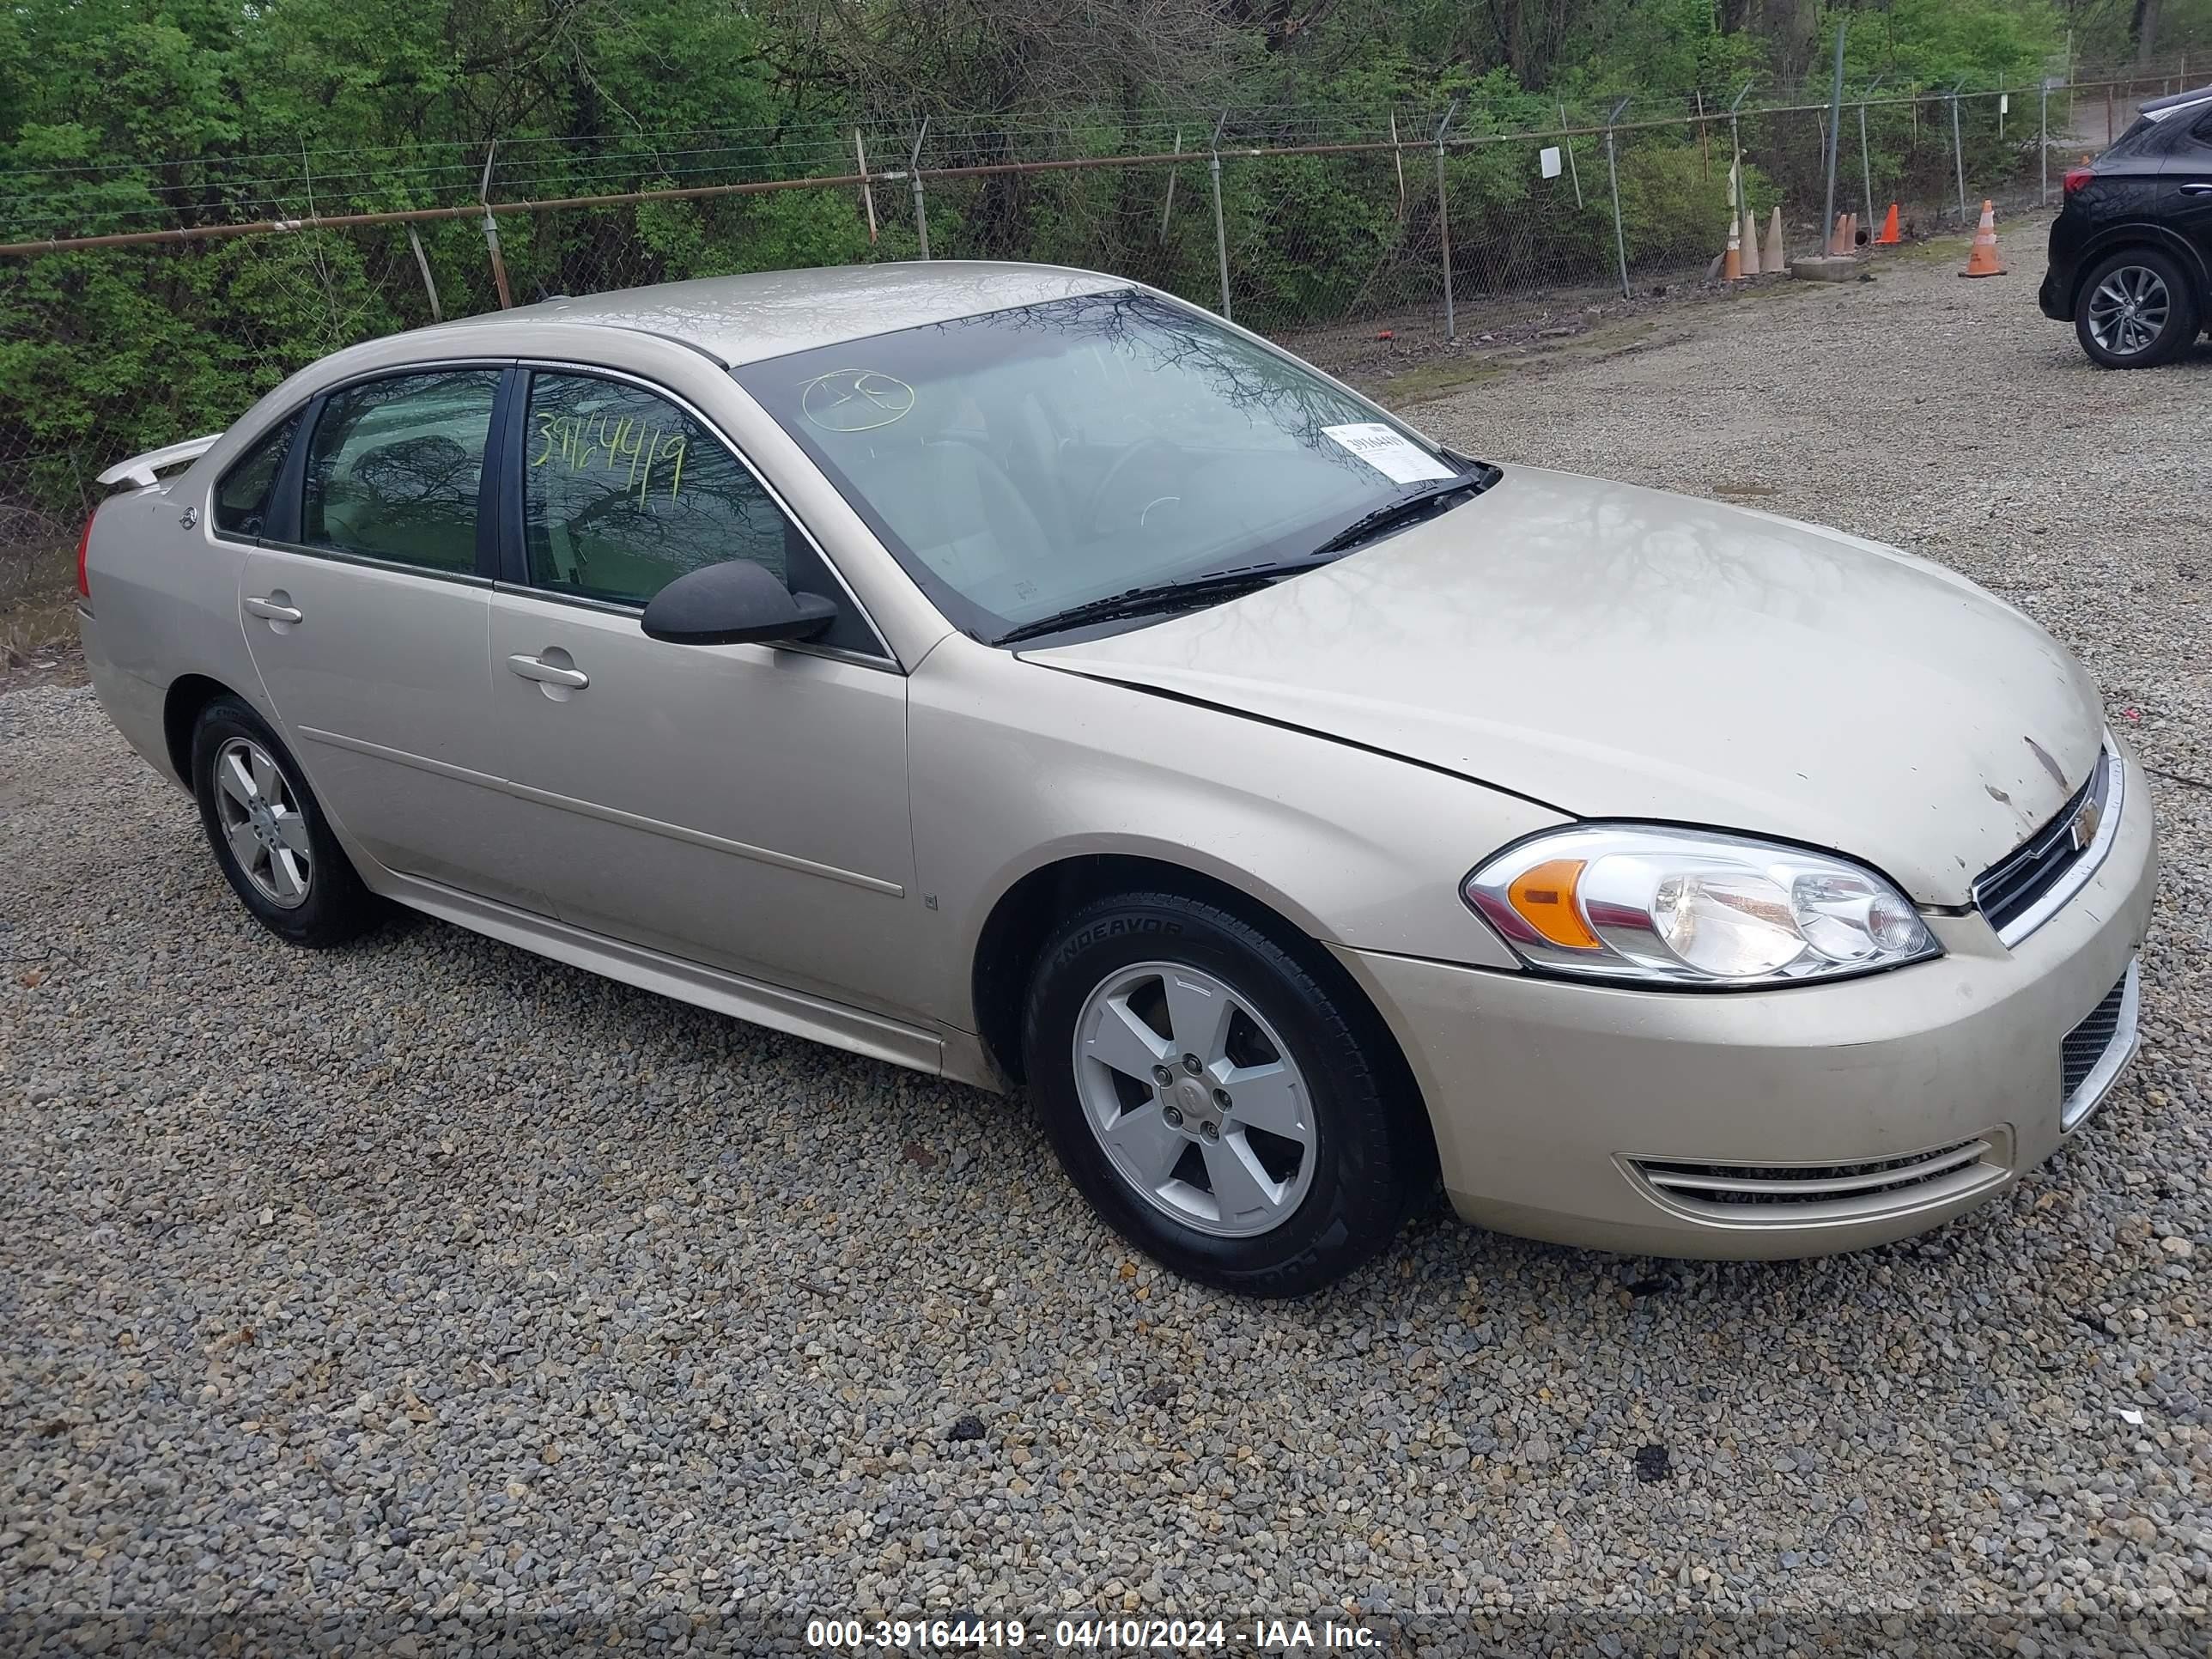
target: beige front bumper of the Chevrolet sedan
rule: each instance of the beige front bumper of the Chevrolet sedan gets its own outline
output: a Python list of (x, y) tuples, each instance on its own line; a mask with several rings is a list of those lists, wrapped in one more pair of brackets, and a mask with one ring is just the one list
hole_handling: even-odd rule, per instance
[[(1736, 993), (1338, 956), (1411, 1062), (1464, 1219), (1635, 1254), (1814, 1256), (1971, 1210), (2090, 1121), (2132, 1055), (2154, 880), (2132, 787), (2097, 874), (2011, 949), (1978, 914), (1931, 916), (1933, 962)], [(2095, 1042), (2106, 1064), (2066, 1108), (2077, 1026), (2075, 1055)]]

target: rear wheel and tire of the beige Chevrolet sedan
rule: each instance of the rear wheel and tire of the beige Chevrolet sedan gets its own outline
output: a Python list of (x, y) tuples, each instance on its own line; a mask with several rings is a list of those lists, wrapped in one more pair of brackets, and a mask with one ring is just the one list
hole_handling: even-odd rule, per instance
[(223, 880), (270, 933), (327, 949), (378, 922), (383, 905), (354, 874), (307, 774), (237, 697), (199, 710), (192, 794)]

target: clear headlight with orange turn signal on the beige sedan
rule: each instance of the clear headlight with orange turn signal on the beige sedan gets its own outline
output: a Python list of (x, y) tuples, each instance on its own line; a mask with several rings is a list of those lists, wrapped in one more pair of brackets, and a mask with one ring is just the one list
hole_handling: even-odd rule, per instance
[(1590, 978), (1790, 984), (1942, 953), (1871, 869), (1703, 830), (1555, 830), (1460, 891), (1531, 967)]

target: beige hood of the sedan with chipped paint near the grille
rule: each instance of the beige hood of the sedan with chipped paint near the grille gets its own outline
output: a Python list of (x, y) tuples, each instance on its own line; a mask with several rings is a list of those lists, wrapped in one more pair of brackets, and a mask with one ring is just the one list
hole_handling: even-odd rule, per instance
[(2104, 734), (2081, 666), (1951, 571), (1533, 467), (1290, 582), (1024, 657), (1582, 818), (1829, 847), (1931, 905), (2048, 823)]

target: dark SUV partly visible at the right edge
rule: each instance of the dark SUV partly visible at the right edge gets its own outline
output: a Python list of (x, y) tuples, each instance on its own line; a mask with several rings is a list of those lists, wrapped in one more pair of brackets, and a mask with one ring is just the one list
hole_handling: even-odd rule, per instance
[(2108, 369), (2197, 341), (2212, 319), (2212, 86), (2150, 100), (2095, 166), (2068, 168), (2037, 301)]

